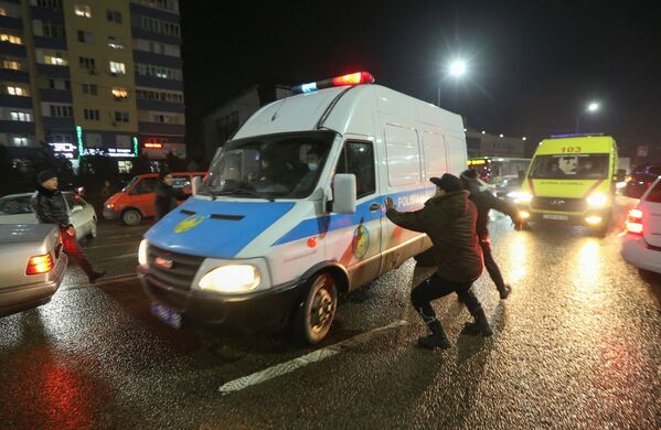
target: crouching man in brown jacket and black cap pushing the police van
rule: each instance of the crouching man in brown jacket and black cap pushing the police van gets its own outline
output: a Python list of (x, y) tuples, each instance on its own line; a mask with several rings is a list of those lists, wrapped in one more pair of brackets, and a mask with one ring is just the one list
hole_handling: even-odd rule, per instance
[(386, 198), (386, 216), (396, 225), (426, 233), (431, 239), (437, 270), (411, 292), (411, 301), (431, 334), (420, 337), (418, 344), (433, 350), (448, 348), (448, 341), (440, 321), (436, 319), (430, 301), (456, 292), (468, 308), (475, 323), (467, 323), (463, 333), (492, 334), (487, 315), (472, 293), (471, 287), (482, 273), (482, 256), (476, 235), (477, 209), (462, 190), (459, 178), (446, 173), (431, 178), (437, 186), (436, 195), (415, 212), (397, 212), (392, 198)]

